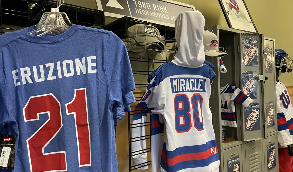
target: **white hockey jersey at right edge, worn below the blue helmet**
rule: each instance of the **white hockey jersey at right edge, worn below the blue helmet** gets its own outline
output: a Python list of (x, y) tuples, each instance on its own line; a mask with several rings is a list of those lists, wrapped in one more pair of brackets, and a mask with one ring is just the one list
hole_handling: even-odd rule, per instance
[(286, 86), (276, 81), (279, 147), (293, 143), (293, 108)]

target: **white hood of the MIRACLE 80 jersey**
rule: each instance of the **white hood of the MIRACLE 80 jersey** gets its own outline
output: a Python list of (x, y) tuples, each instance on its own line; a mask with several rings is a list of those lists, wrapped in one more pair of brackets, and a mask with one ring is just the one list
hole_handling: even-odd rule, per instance
[(183, 67), (200, 67), (205, 61), (203, 31), (205, 18), (199, 11), (180, 13), (175, 21), (175, 37), (178, 51), (174, 64)]

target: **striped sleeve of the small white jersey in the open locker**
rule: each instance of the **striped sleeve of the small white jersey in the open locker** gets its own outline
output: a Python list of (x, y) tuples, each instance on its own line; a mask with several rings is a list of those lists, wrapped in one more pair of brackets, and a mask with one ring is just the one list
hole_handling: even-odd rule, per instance
[(253, 100), (250, 97), (248, 97), (236, 86), (229, 85), (229, 87), (227, 88), (227, 91), (232, 94), (231, 100), (236, 103), (240, 103), (244, 106), (248, 106), (250, 103), (253, 102)]

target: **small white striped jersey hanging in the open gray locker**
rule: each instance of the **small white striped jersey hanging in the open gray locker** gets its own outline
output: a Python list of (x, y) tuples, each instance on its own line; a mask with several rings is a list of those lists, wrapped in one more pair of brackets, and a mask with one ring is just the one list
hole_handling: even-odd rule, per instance
[(247, 106), (253, 100), (236, 86), (227, 84), (221, 88), (221, 116), (224, 126), (237, 127), (234, 102)]

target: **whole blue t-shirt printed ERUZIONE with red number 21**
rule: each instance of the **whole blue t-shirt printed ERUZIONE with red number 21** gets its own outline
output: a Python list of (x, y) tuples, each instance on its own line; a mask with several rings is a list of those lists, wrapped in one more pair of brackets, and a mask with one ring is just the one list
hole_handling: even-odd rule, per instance
[(134, 89), (126, 47), (106, 30), (73, 25), (1, 45), (0, 131), (17, 137), (13, 171), (118, 171), (113, 118)]

